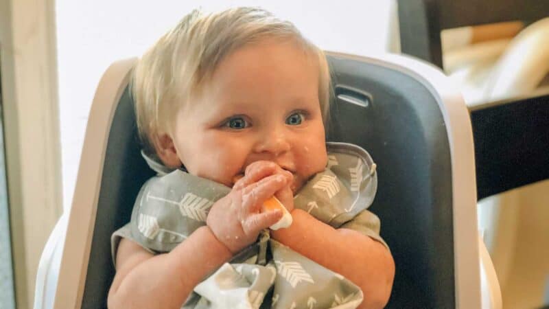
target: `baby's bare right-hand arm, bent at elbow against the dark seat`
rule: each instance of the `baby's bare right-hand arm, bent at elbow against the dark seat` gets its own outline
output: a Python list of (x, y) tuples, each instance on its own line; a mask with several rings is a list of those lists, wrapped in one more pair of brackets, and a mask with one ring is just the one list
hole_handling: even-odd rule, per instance
[(364, 293), (358, 308), (386, 305), (395, 262), (383, 244), (358, 231), (334, 229), (301, 209), (294, 209), (292, 216), (292, 225), (272, 231), (272, 238), (358, 285)]

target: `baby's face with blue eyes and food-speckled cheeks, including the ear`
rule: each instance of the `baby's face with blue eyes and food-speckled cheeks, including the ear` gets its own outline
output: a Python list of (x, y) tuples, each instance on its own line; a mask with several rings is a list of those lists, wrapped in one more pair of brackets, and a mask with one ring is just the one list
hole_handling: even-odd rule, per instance
[(301, 188), (327, 162), (318, 65), (293, 43), (262, 41), (226, 56), (198, 102), (180, 108), (172, 139), (191, 174), (232, 187), (272, 161)]

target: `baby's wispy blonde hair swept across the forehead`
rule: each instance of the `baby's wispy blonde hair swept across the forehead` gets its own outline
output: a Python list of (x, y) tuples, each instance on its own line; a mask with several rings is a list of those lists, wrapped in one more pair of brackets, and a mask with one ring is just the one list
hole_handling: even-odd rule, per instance
[(169, 132), (180, 106), (189, 104), (225, 56), (266, 38), (292, 40), (318, 61), (318, 100), (326, 124), (330, 75), (325, 54), (292, 23), (259, 8), (233, 8), (213, 14), (194, 10), (139, 59), (131, 89), (139, 136), (154, 154), (154, 138)]

